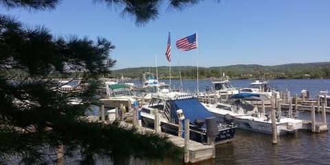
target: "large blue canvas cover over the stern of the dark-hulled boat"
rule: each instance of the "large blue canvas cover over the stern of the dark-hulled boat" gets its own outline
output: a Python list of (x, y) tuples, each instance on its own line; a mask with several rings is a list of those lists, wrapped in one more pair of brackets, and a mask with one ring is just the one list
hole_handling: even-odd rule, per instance
[[(190, 124), (194, 124), (195, 120), (201, 120), (205, 122), (205, 118), (214, 117), (212, 113), (206, 109), (197, 98), (186, 98), (182, 100), (174, 100), (172, 104), (172, 117), (177, 116), (177, 109), (182, 109), (184, 117), (190, 120)], [(175, 118), (177, 123), (179, 119)]]

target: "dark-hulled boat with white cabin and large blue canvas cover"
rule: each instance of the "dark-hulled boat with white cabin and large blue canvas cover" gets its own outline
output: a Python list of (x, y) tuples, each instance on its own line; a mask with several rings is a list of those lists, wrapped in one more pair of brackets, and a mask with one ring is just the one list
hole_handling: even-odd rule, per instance
[[(162, 91), (153, 95), (148, 105), (142, 106), (140, 111), (142, 126), (153, 129), (155, 126), (155, 114), (160, 114), (160, 127), (162, 132), (179, 135), (179, 122), (190, 120), (190, 140), (208, 144), (210, 124), (213, 120), (212, 133), (214, 144), (230, 142), (235, 134), (236, 125), (230, 117), (225, 122), (210, 113), (195, 95), (184, 94), (178, 91)], [(183, 113), (183, 114), (182, 114)], [(184, 116), (183, 120), (180, 120)], [(182, 119), (182, 118), (181, 118)], [(214, 131), (215, 130), (215, 131)]]

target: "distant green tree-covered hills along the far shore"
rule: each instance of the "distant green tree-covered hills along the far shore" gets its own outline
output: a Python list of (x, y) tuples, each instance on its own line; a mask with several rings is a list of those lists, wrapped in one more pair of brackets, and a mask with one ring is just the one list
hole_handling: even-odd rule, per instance
[[(171, 72), (169, 72), (169, 70)], [(142, 78), (144, 72), (158, 74), (159, 79), (197, 78), (197, 67), (134, 67), (113, 70), (107, 77), (110, 78)], [(291, 63), (285, 65), (263, 66), (263, 65), (229, 65), (225, 67), (199, 67), (200, 79), (216, 77), (221, 78), (223, 74), (230, 79), (300, 79), (300, 78), (330, 78), (330, 63)]]

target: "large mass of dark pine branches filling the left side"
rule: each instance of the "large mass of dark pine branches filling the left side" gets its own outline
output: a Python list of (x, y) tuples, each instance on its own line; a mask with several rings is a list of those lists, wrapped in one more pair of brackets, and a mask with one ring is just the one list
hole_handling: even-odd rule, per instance
[[(98, 104), (97, 79), (111, 74), (116, 62), (109, 57), (115, 47), (107, 39), (54, 39), (46, 28), (24, 29), (19, 21), (0, 16), (0, 46), (1, 164), (11, 157), (22, 164), (50, 164), (60, 145), (67, 156), (80, 151), (82, 164), (97, 157), (122, 164), (131, 156), (162, 159), (181, 152), (167, 137), (84, 117)], [(63, 92), (57, 76), (80, 77), (80, 84)], [(72, 98), (81, 104), (70, 104)]]

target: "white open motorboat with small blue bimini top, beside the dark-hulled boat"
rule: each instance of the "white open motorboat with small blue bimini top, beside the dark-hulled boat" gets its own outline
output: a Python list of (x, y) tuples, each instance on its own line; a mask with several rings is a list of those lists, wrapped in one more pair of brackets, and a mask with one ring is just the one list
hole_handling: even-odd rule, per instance
[[(234, 94), (228, 103), (204, 104), (208, 111), (223, 118), (224, 115), (230, 114), (234, 116), (235, 123), (238, 128), (249, 131), (272, 134), (272, 120), (270, 114), (260, 113), (256, 107), (253, 107), (244, 98), (256, 97), (257, 94), (240, 93)], [(236, 99), (234, 99), (236, 98)], [(283, 135), (294, 133), (302, 129), (303, 121), (276, 116), (277, 134)]]

